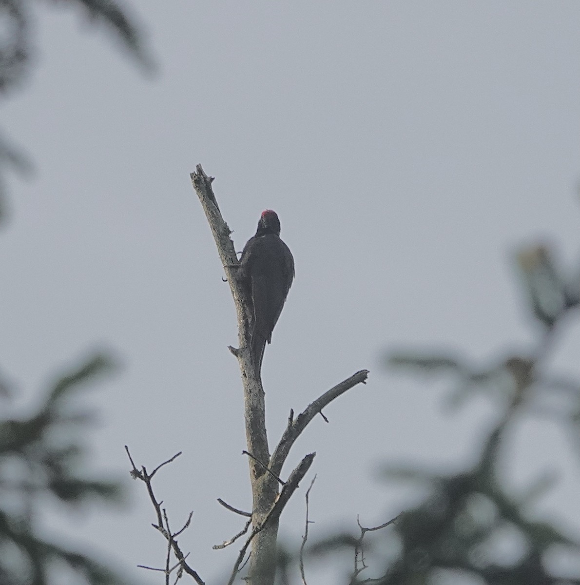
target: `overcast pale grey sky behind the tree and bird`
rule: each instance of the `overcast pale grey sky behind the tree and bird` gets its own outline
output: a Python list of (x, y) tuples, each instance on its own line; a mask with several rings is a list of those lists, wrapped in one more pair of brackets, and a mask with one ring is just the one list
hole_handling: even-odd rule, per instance
[[(237, 553), (211, 549), (241, 528), (216, 498), (249, 508), (250, 488), (227, 351), (236, 320), (189, 180), (196, 163), (216, 177), (236, 249), (272, 208), (294, 253), (263, 367), (271, 442), (290, 408), (371, 370), (289, 459), (286, 473), (317, 452), (313, 538), (401, 511), (381, 462), (468, 460), (493, 405), (446, 417), (443, 384), (395, 376), (381, 358), (443, 345), (486, 364), (533, 341), (513, 250), (547, 239), (568, 264), (579, 252), (580, 4), (140, 0), (155, 78), (80, 11), (50, 8), (38, 6), (36, 68), (3, 105), (36, 176), (11, 181), (0, 235), (0, 358), (25, 403), (65, 364), (115, 350), (124, 366), (95, 384), (101, 425), (87, 440), (130, 497), (123, 510), (60, 512), (46, 530), (153, 583), (135, 566), (163, 566), (163, 541), (123, 445), (150, 467), (182, 450), (155, 484), (174, 525), (194, 510), (182, 548), (209, 583)], [(578, 377), (579, 342), (571, 324), (554, 368)], [(566, 438), (537, 420), (510, 449), (517, 488), (562, 453), (564, 481), (538, 515), (577, 531)], [(295, 544), (304, 491), (282, 515)]]

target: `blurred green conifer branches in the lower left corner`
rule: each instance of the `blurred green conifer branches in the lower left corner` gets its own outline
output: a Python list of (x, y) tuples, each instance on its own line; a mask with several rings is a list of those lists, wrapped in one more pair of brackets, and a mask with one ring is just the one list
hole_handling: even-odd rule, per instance
[(38, 534), (39, 511), (50, 498), (67, 507), (120, 498), (117, 482), (79, 472), (87, 458), (81, 436), (92, 417), (72, 408), (87, 383), (111, 368), (108, 357), (96, 355), (58, 379), (34, 414), (0, 422), (0, 585), (57, 583), (63, 567), (76, 583), (122, 582), (108, 566)]

